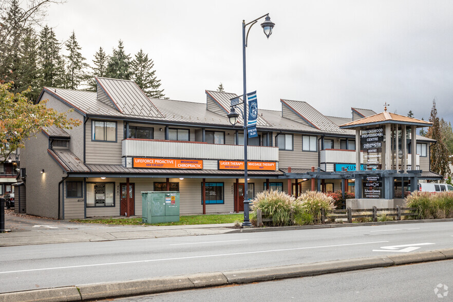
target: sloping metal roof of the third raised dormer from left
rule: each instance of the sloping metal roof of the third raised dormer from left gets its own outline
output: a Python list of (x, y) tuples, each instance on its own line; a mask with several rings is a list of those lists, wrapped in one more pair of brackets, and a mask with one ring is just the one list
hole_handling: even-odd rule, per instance
[(287, 106), (295, 114), (300, 116), (301, 119), (307, 121), (313, 127), (319, 130), (344, 133), (342, 129), (339, 129), (331, 120), (320, 114), (318, 110), (310, 106), (307, 102), (291, 101), (291, 100), (280, 100), (283, 106)]

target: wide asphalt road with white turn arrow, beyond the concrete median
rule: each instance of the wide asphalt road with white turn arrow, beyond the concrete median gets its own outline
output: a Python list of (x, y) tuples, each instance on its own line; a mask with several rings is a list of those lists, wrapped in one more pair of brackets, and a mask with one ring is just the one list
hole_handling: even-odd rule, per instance
[(452, 236), (433, 222), (3, 247), (0, 292), (438, 250)]

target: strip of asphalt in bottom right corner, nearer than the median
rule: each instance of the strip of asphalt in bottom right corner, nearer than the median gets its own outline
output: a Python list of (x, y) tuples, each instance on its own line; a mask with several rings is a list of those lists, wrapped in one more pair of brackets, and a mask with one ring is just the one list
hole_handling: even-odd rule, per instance
[(451, 301), (452, 271), (444, 260), (115, 301)]

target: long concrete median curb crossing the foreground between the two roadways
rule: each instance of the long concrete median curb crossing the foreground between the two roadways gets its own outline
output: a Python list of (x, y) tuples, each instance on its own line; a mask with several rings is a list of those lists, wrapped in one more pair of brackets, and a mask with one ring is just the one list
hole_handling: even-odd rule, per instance
[(3, 301), (80, 301), (149, 295), (170, 291), (190, 290), (232, 284), (308, 277), (370, 268), (384, 268), (429, 261), (453, 259), (453, 249), (416, 252), (344, 260), (306, 263), (270, 268), (200, 273), (184, 276), (160, 277), (145, 280), (91, 284), (61, 288), (39, 289), (0, 294)]

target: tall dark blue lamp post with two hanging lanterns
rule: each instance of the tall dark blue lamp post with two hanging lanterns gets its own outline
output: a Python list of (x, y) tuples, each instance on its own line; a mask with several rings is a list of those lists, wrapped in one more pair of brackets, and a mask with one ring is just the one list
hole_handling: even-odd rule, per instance
[[(249, 219), (249, 194), (248, 194), (248, 187), (247, 187), (247, 74), (246, 74), (246, 47), (247, 47), (247, 41), (249, 37), (249, 32), (252, 26), (258, 22), (259, 19), (266, 17), (265, 22), (261, 23), (261, 27), (265, 33), (265, 35), (268, 37), (272, 34), (272, 29), (274, 28), (275, 24), (271, 22), (271, 17), (269, 16), (269, 13), (260, 16), (259, 18), (256, 18), (255, 20), (249, 22), (246, 24), (245, 20), (242, 20), (242, 73), (243, 73), (243, 94), (242, 94), (242, 100), (244, 104), (244, 111), (243, 111), (243, 122), (244, 122), (244, 222), (242, 223), (243, 226), (250, 226), (252, 225), (250, 223)], [(246, 35), (246, 28), (249, 26), (249, 30), (247, 31)], [(236, 104), (239, 105), (239, 104)], [(234, 126), (237, 122), (237, 118), (239, 117), (239, 114), (235, 111), (234, 106), (231, 106), (231, 111), (227, 115), (228, 118), (230, 119), (230, 123)]]

